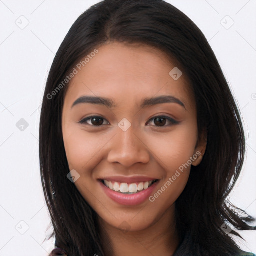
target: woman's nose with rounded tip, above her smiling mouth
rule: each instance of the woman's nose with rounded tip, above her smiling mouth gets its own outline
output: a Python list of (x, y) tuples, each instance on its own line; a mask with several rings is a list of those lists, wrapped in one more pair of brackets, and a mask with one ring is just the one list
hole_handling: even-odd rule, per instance
[(150, 160), (146, 141), (134, 132), (132, 126), (126, 131), (118, 128), (109, 146), (107, 157), (109, 162), (118, 162), (125, 167), (130, 167), (134, 163), (147, 163)]

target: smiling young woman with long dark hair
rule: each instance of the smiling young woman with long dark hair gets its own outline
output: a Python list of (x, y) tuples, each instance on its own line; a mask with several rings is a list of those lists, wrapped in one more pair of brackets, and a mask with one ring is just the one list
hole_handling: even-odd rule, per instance
[(228, 84), (186, 15), (162, 0), (93, 5), (42, 103), (51, 255), (253, 255), (229, 236), (256, 229), (226, 199), (244, 151)]

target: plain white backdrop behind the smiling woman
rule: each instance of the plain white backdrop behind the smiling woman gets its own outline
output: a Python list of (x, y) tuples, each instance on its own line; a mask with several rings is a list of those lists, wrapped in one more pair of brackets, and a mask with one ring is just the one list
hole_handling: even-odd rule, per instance
[[(45, 256), (54, 247), (54, 239), (43, 242), (51, 228), (46, 232), (38, 156), (42, 95), (64, 36), (96, 2), (0, 0), (0, 256)], [(256, 217), (256, 0), (168, 2), (205, 34), (238, 102), (247, 154), (231, 201)], [(21, 118), (28, 123), (23, 131), (16, 127)], [(247, 241), (236, 238), (241, 248), (255, 253), (256, 231), (239, 233)]]

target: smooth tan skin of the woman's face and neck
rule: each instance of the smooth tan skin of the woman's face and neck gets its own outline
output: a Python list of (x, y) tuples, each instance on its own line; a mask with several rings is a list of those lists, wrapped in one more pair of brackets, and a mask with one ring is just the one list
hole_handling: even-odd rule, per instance
[[(64, 98), (66, 156), (70, 170), (80, 175), (74, 184), (99, 216), (107, 256), (170, 256), (180, 242), (175, 201), (186, 186), (191, 166), (154, 202), (145, 200), (135, 206), (110, 199), (98, 179), (137, 174), (154, 177), (159, 179), (154, 194), (196, 152), (203, 155), (206, 139), (205, 134), (197, 132), (194, 95), (184, 73), (178, 80), (169, 75), (176, 65), (158, 49), (109, 42), (98, 51), (72, 78)], [(79, 103), (72, 107), (85, 95), (110, 98), (114, 105)], [(140, 108), (144, 98), (160, 95), (174, 96), (184, 106), (170, 102)], [(167, 118), (157, 121), (156, 117), (162, 115), (176, 123)], [(91, 116), (103, 119), (79, 123)], [(123, 118), (131, 124), (126, 131), (118, 126)], [(198, 157), (192, 165), (198, 165), (201, 159)], [(122, 230), (124, 226), (126, 231)], [(104, 238), (104, 232), (110, 241)]]

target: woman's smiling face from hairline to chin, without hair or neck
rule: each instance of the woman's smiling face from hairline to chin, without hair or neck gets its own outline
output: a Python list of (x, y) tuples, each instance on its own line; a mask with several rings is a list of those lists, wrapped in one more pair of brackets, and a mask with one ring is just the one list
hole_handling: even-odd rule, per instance
[[(106, 224), (145, 229), (174, 212), (205, 149), (196, 145), (193, 94), (185, 74), (148, 46), (106, 44), (83, 65), (62, 113), (74, 185)], [(84, 96), (92, 98), (76, 101)]]

